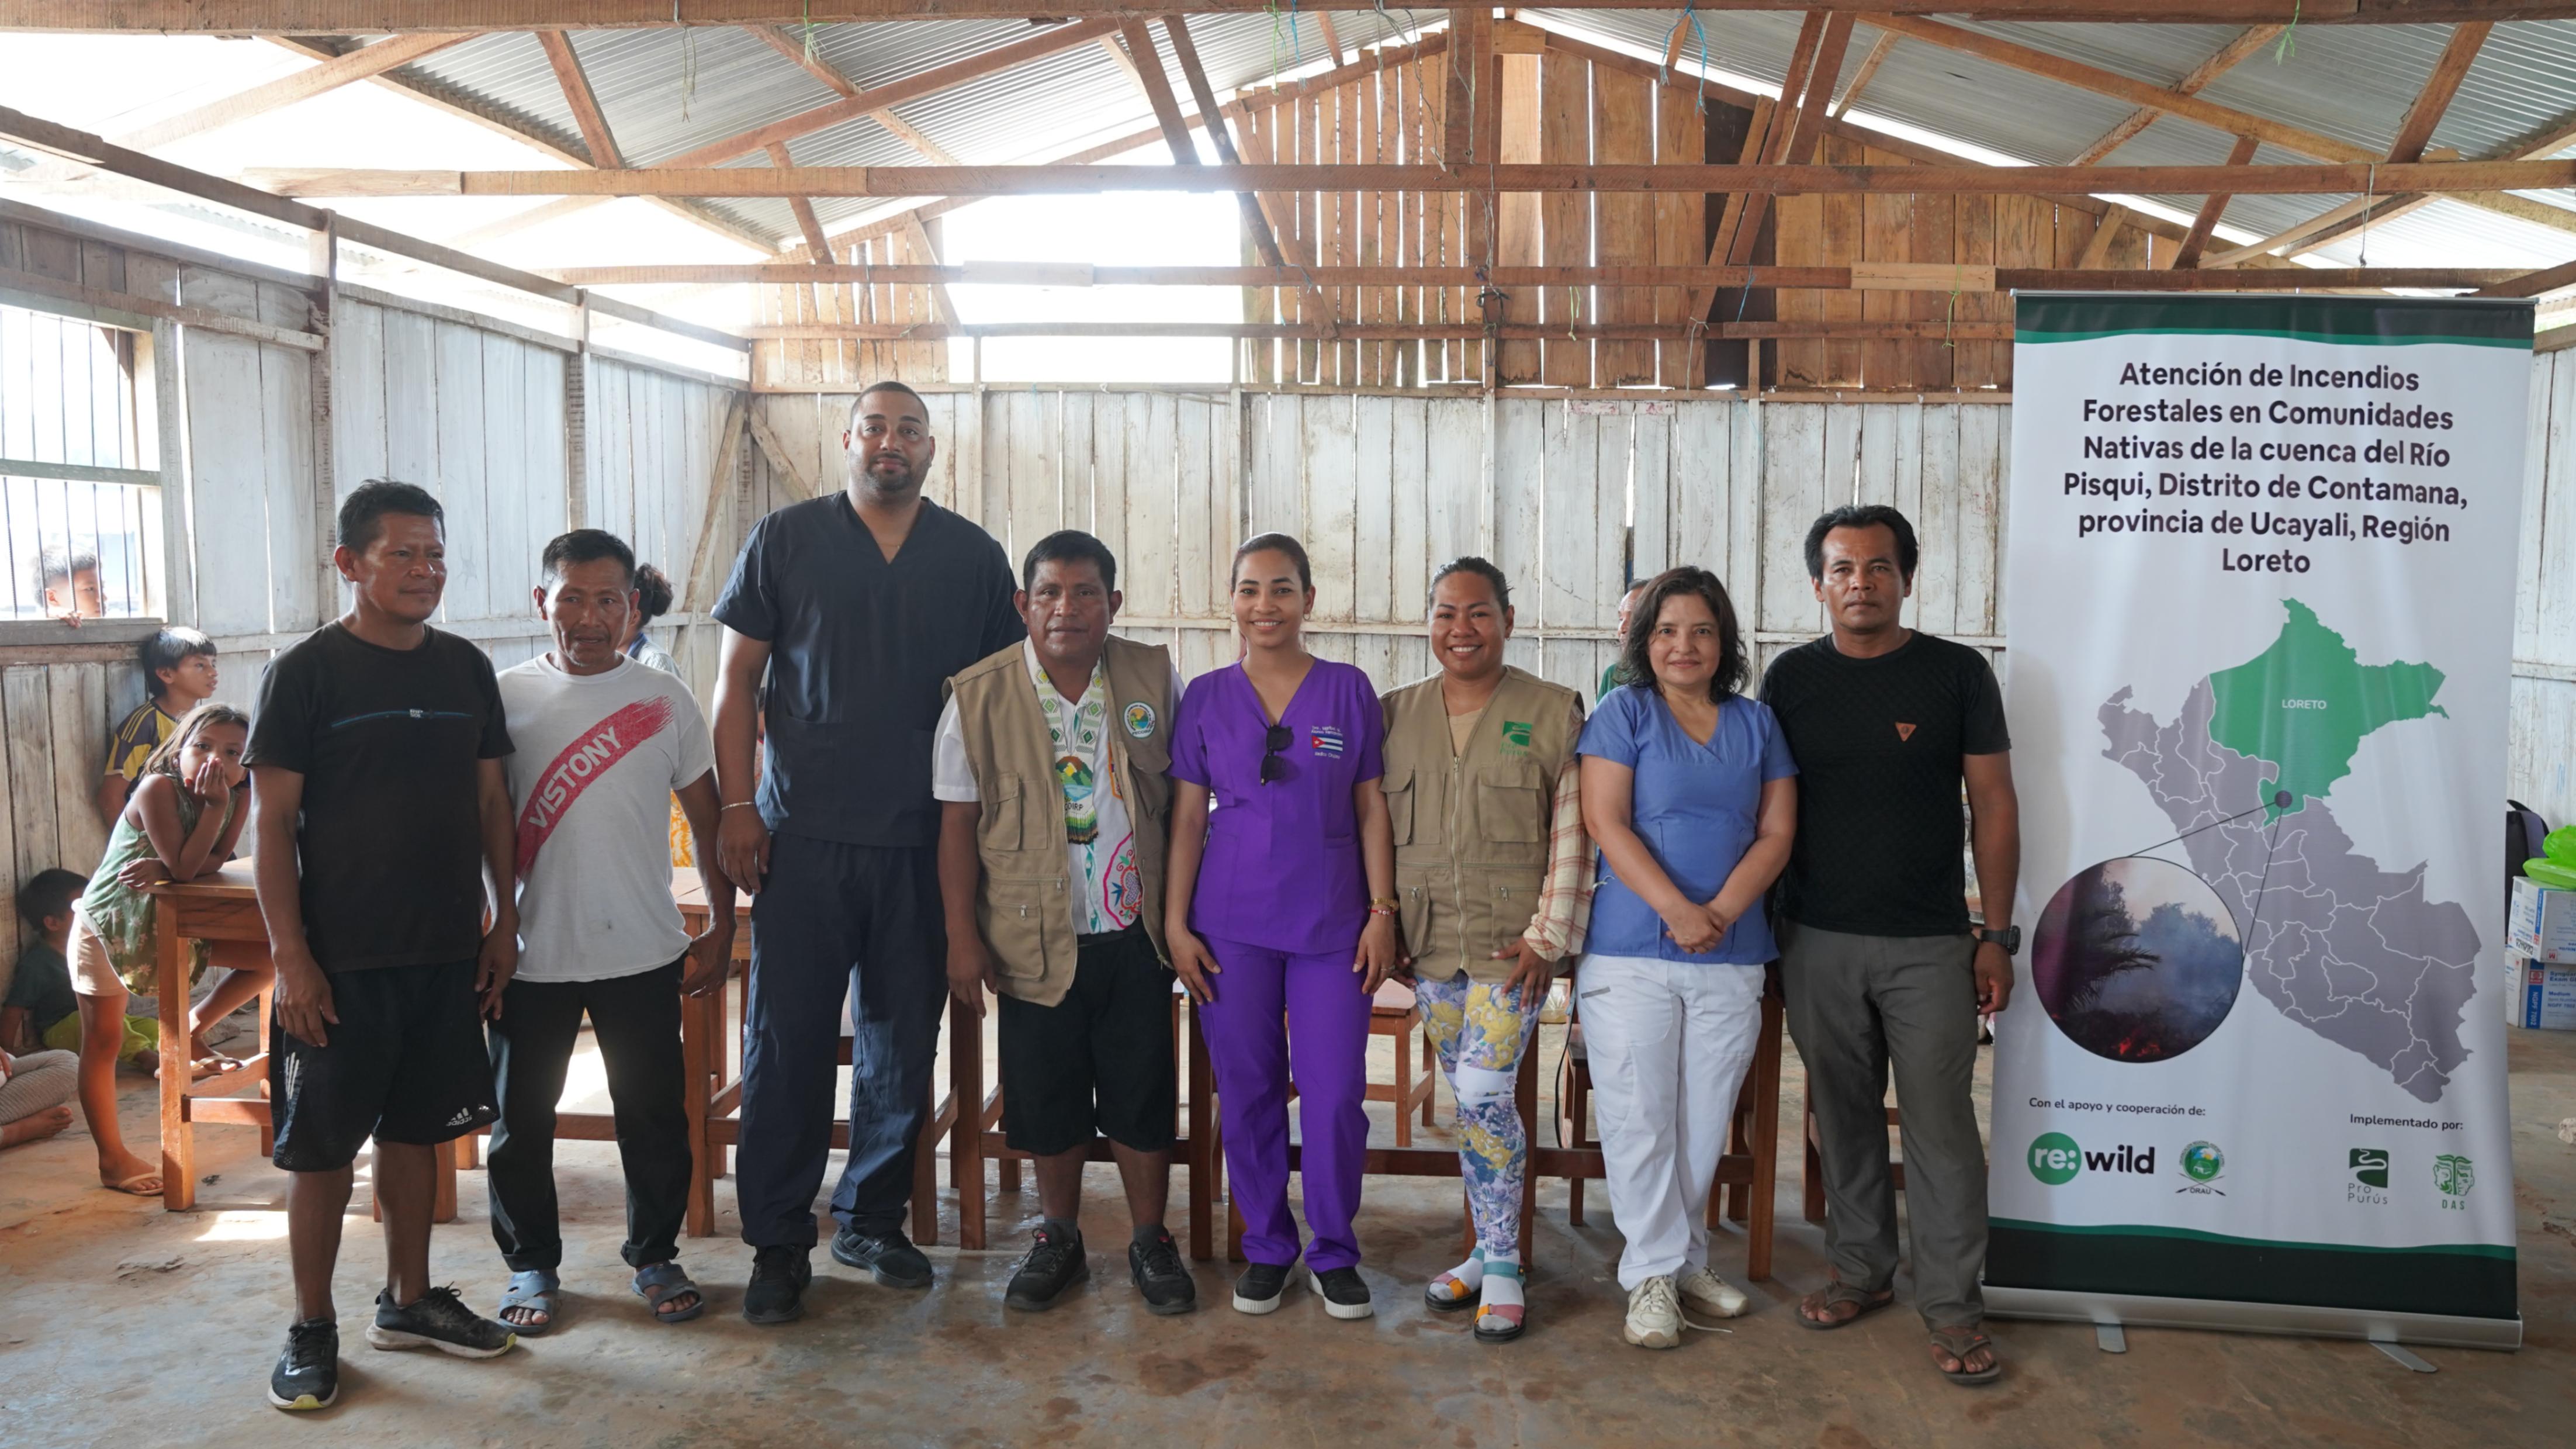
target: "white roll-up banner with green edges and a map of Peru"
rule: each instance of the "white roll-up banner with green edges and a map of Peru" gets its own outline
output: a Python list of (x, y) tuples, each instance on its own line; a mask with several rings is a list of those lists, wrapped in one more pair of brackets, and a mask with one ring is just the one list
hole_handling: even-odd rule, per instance
[(2514, 1348), (2532, 307), (2014, 302), (1996, 1315)]

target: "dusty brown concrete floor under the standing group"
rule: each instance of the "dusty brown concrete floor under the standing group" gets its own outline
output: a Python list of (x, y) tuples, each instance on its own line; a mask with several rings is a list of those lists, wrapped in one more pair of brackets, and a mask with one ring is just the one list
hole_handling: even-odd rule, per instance
[[(469, 1364), (374, 1354), (350, 1333), (343, 1403), (286, 1418), (263, 1400), (289, 1315), (283, 1173), (252, 1152), (250, 1132), (206, 1129), (204, 1209), (173, 1217), (88, 1189), (90, 1145), (72, 1129), (0, 1155), (0, 1444), (2563, 1446), (2576, 1423), (2576, 1147), (2555, 1127), (2576, 1116), (2576, 1034), (2512, 1036), (2527, 1348), (2429, 1351), (2439, 1374), (2362, 1343), (2138, 1330), (2125, 1356), (2107, 1356), (2081, 1325), (1996, 1323), (2004, 1382), (1942, 1385), (1906, 1310), (1842, 1333), (1795, 1325), (1795, 1294), (1821, 1284), (1824, 1266), (1819, 1230), (1795, 1212), (1793, 1132), (1775, 1281), (1754, 1284), (1754, 1312), (1734, 1333), (1690, 1333), (1669, 1354), (1618, 1341), (1618, 1232), (1597, 1186), (1579, 1230), (1564, 1186), (1540, 1189), (1533, 1328), (1479, 1346), (1463, 1320), (1419, 1305), (1430, 1274), (1458, 1256), (1453, 1183), (1368, 1183), (1368, 1323), (1324, 1318), (1306, 1289), (1273, 1318), (1236, 1315), (1218, 1263), (1198, 1266), (1198, 1315), (1149, 1318), (1126, 1284), (1110, 1168), (1092, 1168), (1087, 1199), (1095, 1281), (1054, 1312), (999, 1302), (1036, 1212), (1023, 1189), (994, 1201), (1002, 1248), (989, 1253), (953, 1248), (956, 1201), (943, 1194), (951, 1245), (930, 1253), (940, 1284), (927, 1294), (878, 1289), (817, 1253), (809, 1315), (788, 1328), (742, 1323), (739, 1243), (683, 1243), (714, 1305), (672, 1328), (626, 1292), (613, 1147), (567, 1142), (569, 1297), (554, 1336)], [(595, 1060), (587, 1067), (574, 1093), (598, 1088)], [(1783, 1122), (1798, 1119), (1798, 1093), (1793, 1057)], [(1383, 1137), (1386, 1109), (1373, 1111)], [(129, 1134), (152, 1140), (139, 1078), (124, 1116)], [(732, 1232), (732, 1183), (716, 1191)], [(502, 1266), (479, 1176), (464, 1199), (464, 1220), (438, 1230), (435, 1274), (489, 1307)], [(1721, 1243), (1718, 1266), (1741, 1281), (1741, 1238)], [(361, 1178), (340, 1266), (350, 1323), (379, 1281)]]

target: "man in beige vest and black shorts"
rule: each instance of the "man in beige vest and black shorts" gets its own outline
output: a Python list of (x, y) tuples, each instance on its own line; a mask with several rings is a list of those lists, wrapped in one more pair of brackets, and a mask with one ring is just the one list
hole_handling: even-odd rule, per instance
[(1036, 1243), (1002, 1302), (1054, 1307), (1090, 1276), (1077, 1214), (1092, 1134), (1110, 1140), (1149, 1312), (1198, 1289), (1162, 1225), (1172, 1183), (1172, 969), (1162, 946), (1172, 704), (1162, 645), (1110, 634), (1118, 559), (1038, 539), (1012, 601), (1028, 639), (948, 681), (933, 745), (948, 990), (999, 995), (1002, 1134), (1038, 1163)]

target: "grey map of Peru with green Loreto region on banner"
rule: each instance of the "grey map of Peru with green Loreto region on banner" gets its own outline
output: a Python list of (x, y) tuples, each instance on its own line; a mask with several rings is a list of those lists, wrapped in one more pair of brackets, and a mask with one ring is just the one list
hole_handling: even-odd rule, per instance
[[(2424, 900), (2424, 866), (2383, 871), (2354, 853), (2326, 794), (2365, 735), (2442, 717), (2442, 670), (2362, 665), (2306, 603), (2254, 660), (2192, 686), (2161, 724), (2102, 704), (2105, 758), (2136, 773), (2192, 869), (2236, 913), (2246, 977), (2290, 1021), (2360, 1052), (2421, 1101), (2468, 1060), (2460, 1018), (2476, 993), (2478, 931), (2455, 902)], [(2280, 797), (2287, 794), (2287, 804)]]

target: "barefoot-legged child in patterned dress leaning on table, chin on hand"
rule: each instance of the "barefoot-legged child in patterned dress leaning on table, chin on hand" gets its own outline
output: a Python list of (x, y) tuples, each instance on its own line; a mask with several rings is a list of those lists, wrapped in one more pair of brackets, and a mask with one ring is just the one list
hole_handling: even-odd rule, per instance
[[(72, 910), (72, 990), (80, 995), (80, 1109), (98, 1140), (98, 1181), (116, 1191), (152, 1196), (162, 1191), (160, 1173), (144, 1158), (126, 1152), (116, 1127), (116, 1031), (129, 993), (157, 993), (157, 941), (152, 933), (155, 897), (144, 890), (160, 882), (191, 882), (224, 869), (250, 815), (250, 771), (242, 748), (250, 743), (250, 717), (229, 704), (198, 704), (178, 730), (152, 750), (134, 799), (116, 815), (108, 853), (90, 877), (88, 895)], [(219, 1057), (206, 1044), (206, 1029), (232, 1016), (268, 987), (276, 967), (258, 944), (191, 941), (188, 982), (214, 962), (224, 980), (188, 1013), (188, 1070), (232, 1070), (240, 1062)], [(167, 1062), (162, 1070), (173, 1070)]]

